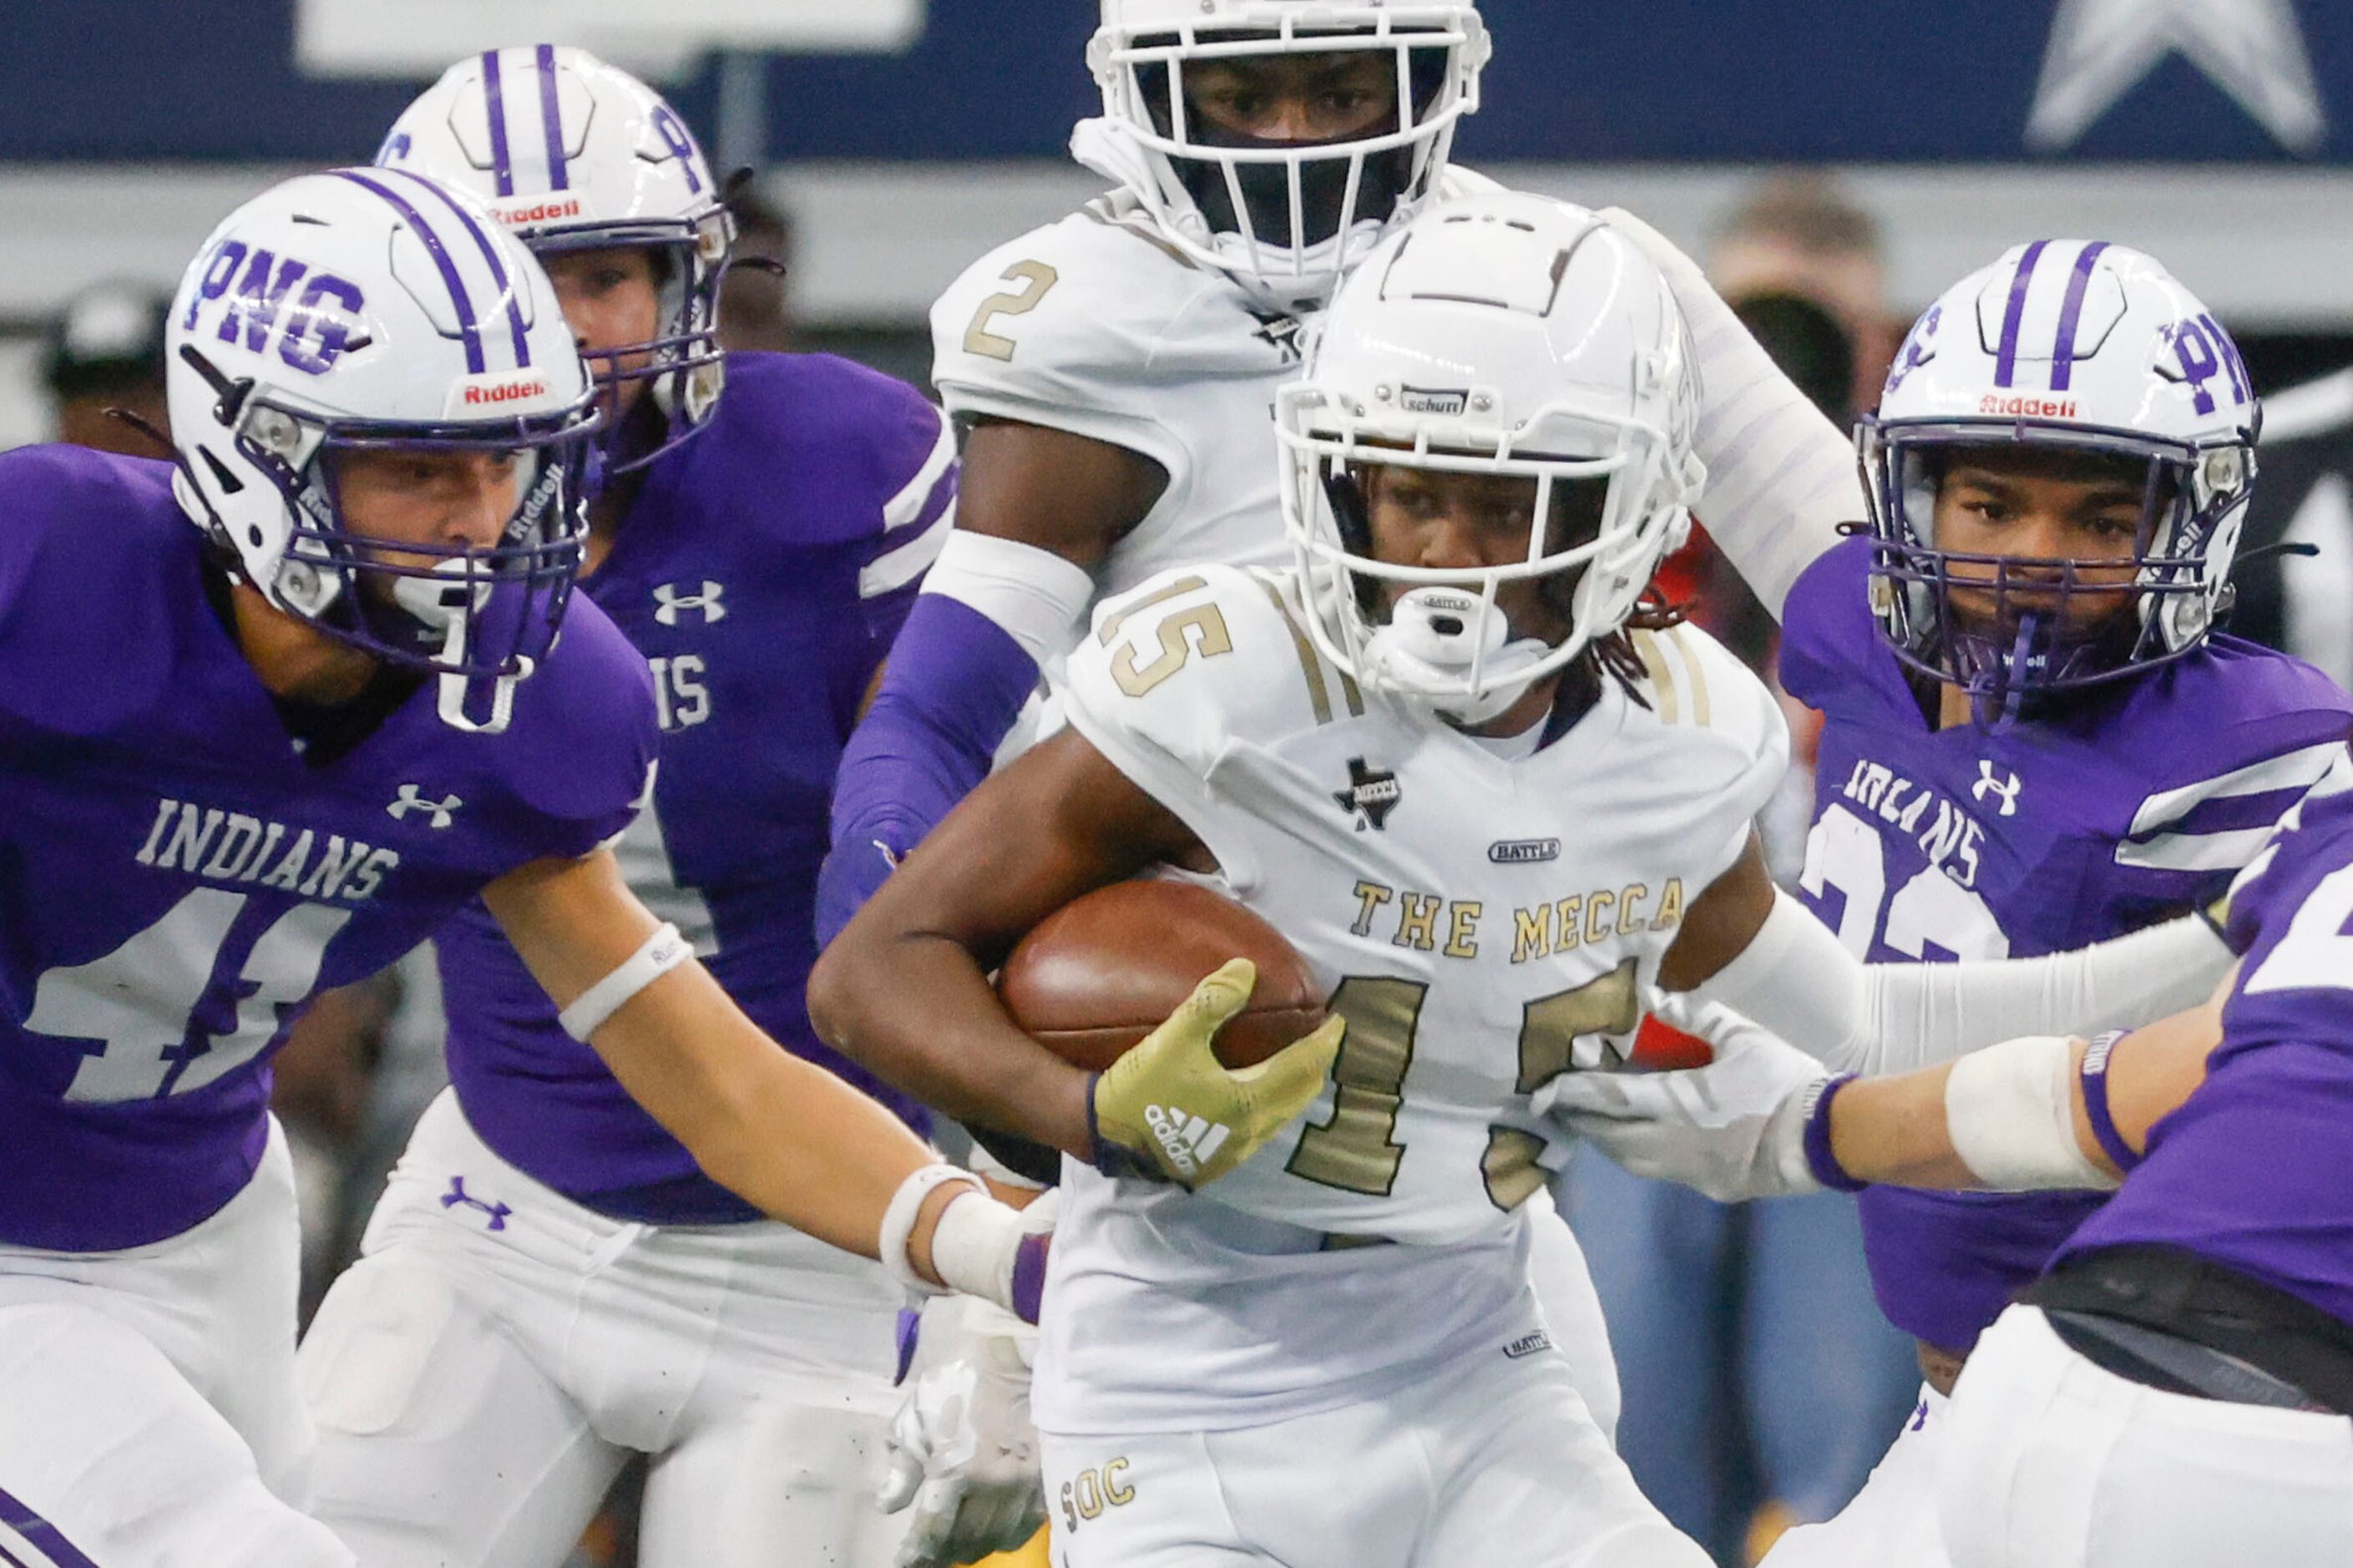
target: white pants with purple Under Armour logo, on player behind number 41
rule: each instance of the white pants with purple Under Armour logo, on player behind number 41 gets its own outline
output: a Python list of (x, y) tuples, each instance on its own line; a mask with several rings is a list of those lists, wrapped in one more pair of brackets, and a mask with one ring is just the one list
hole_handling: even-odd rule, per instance
[(645, 1568), (885, 1566), (901, 1290), (784, 1224), (541, 1187), (445, 1092), (301, 1347), (318, 1514), (365, 1568), (553, 1568), (628, 1450)]

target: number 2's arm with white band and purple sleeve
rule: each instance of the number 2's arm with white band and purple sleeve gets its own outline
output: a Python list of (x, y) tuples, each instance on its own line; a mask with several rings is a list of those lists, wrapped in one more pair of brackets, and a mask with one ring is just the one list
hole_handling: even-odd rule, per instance
[(821, 944), (988, 777), (1040, 666), (1075, 636), (1094, 567), (1153, 509), (1167, 471), (1104, 440), (988, 419), (965, 438), (960, 483), (955, 532), (842, 751)]

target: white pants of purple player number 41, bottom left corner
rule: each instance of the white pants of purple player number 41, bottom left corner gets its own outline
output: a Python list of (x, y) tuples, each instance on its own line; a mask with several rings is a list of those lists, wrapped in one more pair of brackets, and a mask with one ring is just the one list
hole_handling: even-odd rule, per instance
[(202, 1224), (122, 1253), (0, 1245), (0, 1561), (346, 1568), (306, 1519), (285, 1135)]

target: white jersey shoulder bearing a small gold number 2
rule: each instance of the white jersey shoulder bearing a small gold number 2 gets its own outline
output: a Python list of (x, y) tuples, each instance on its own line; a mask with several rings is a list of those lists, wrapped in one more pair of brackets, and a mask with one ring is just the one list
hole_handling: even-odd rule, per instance
[(1115, 212), (1089, 202), (958, 278), (932, 306), (932, 381), (951, 414), (1092, 436), (1176, 473), (1172, 388), (1278, 374), (1285, 346), (1231, 278)]

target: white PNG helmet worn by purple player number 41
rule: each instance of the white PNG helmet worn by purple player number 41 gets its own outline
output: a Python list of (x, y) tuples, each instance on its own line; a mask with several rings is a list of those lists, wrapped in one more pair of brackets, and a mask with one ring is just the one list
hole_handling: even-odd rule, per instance
[[(442, 676), (449, 723), (501, 727), (579, 572), (595, 431), (588, 370), (532, 254), (416, 174), (304, 174), (212, 231), (167, 353), (174, 490), (235, 572), (329, 636)], [(504, 542), (367, 549), (334, 457), (379, 447), (525, 457)]]

